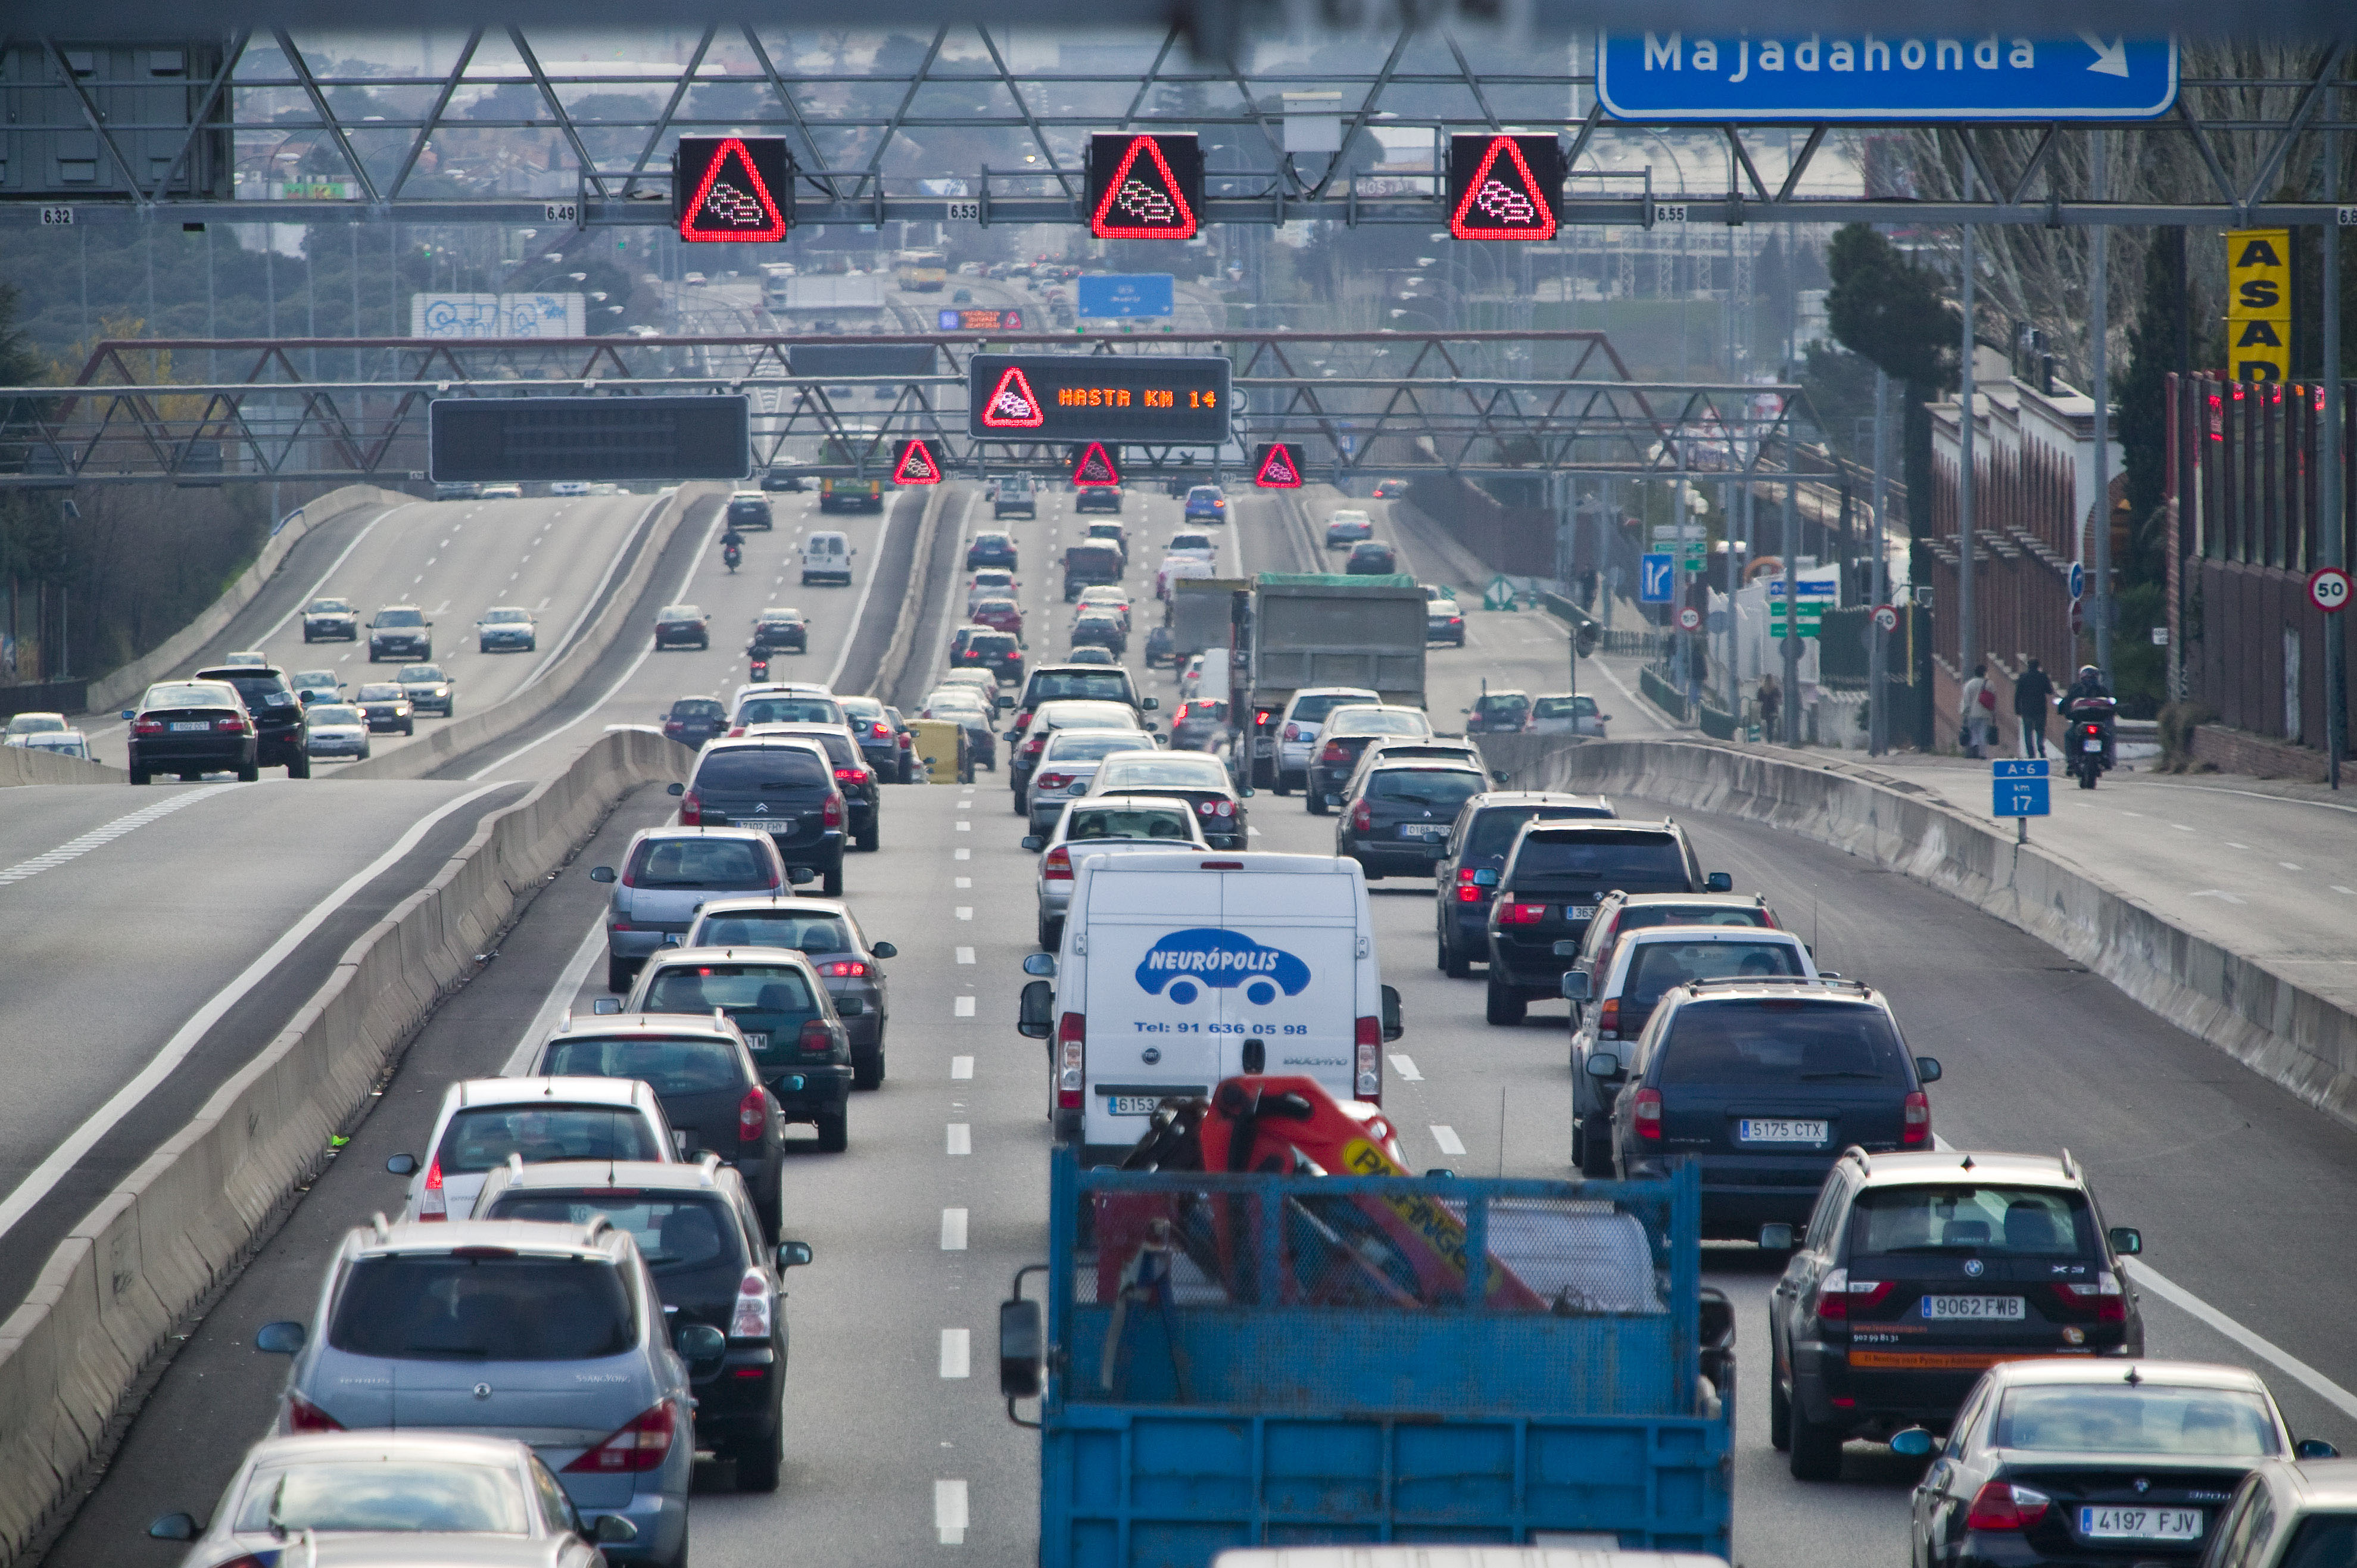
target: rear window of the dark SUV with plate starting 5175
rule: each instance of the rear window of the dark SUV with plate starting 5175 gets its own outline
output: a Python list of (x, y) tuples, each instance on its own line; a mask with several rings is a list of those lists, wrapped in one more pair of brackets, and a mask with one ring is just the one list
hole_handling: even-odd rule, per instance
[(1909, 1082), (1897, 1030), (1879, 1007), (1855, 1002), (1690, 1002), (1678, 1009), (1662, 1054), (1664, 1085)]

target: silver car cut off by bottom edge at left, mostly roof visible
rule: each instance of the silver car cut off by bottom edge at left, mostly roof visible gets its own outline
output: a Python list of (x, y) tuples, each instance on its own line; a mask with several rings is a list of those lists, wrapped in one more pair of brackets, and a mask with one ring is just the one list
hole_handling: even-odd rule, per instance
[(262, 1438), (245, 1450), (212, 1523), (165, 1514), (148, 1526), (156, 1540), (191, 1542), (181, 1568), (269, 1561), (297, 1533), (335, 1554), (321, 1554), (321, 1563), (448, 1554), (464, 1563), (592, 1568), (606, 1561), (601, 1542), (629, 1542), (636, 1526), (620, 1514), (585, 1526), (528, 1443), (457, 1431)]

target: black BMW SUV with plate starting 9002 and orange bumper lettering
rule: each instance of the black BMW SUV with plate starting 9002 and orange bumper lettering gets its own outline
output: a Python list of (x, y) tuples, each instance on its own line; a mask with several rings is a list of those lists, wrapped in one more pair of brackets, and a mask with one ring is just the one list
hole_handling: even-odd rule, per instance
[(1846, 1438), (1945, 1431), (1999, 1361), (2143, 1356), (2119, 1271), (2143, 1250), (2069, 1151), (1846, 1148), (1768, 1299), (1768, 1438), (1794, 1476), (1838, 1481)]

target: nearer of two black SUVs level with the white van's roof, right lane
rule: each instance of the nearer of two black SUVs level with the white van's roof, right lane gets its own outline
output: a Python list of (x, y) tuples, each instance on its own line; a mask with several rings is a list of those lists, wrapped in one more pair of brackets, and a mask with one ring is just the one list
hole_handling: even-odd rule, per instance
[(1631, 894), (1723, 894), (1735, 879), (1702, 872), (1678, 823), (1525, 823), (1490, 903), (1490, 1023), (1520, 1023), (1534, 997), (1563, 995), (1596, 903)]

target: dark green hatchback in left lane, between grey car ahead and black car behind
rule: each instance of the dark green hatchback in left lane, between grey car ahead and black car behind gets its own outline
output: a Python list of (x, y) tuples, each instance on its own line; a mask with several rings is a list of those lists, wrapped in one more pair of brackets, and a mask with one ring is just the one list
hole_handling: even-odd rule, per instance
[(818, 1127), (818, 1148), (841, 1153), (849, 1139), (851, 1030), (816, 964), (785, 948), (665, 948), (646, 960), (629, 997), (599, 997), (601, 1012), (714, 1012), (745, 1035), (761, 1085), (787, 1122)]

